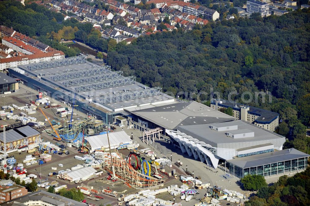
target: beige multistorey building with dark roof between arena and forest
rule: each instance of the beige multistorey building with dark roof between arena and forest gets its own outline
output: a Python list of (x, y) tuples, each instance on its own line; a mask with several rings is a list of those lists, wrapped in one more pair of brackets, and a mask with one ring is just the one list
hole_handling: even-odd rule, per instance
[(231, 103), (229, 101), (213, 100), (210, 107), (216, 110), (220, 108), (232, 108), (233, 116), (239, 120), (244, 120), (255, 124), (263, 129), (274, 131), (279, 125), (279, 114), (268, 110), (245, 106), (240, 103)]

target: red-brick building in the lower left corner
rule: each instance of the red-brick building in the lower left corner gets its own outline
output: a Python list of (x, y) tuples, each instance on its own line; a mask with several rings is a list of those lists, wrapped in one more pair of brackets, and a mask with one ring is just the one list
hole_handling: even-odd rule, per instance
[(12, 180), (0, 181), (0, 204), (11, 199), (27, 195), (28, 191), (24, 186), (16, 185)]

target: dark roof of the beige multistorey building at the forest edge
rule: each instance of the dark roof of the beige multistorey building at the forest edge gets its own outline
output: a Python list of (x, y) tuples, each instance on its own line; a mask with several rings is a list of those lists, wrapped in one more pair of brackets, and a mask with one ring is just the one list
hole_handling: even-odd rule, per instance
[[(215, 105), (215, 102), (211, 102), (211, 104)], [(232, 103), (232, 102), (229, 102), (226, 100), (223, 100), (223, 103), (218, 103), (218, 105), (220, 107), (223, 107), (223, 106), (224, 107), (232, 107), (232, 109), (236, 110), (236, 111), (241, 111), (240, 106), (244, 106), (244, 104), (237, 103), (237, 107), (235, 107), (236, 103)], [(264, 109), (257, 108), (257, 107), (251, 107), (251, 106), (249, 106), (249, 107), (250, 107), (250, 109), (248, 111), (249, 114), (254, 114), (256, 116), (259, 116), (255, 120), (255, 122), (257, 122), (257, 123), (270, 123), (279, 116), (279, 114), (276, 112), (271, 112), (271, 111), (264, 110)]]

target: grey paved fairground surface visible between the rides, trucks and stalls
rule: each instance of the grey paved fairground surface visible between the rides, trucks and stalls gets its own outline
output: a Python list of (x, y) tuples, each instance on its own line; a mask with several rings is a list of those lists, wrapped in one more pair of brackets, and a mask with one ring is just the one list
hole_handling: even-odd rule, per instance
[[(12, 94), (7, 94), (7, 95), (1, 95), (0, 106), (12, 105), (12, 104), (16, 104), (16, 105), (21, 106), (21, 105), (29, 104), (31, 102), (31, 99), (33, 99), (33, 100), (38, 99), (37, 95), (38, 95), (38, 91), (32, 90), (32, 89), (30, 89), (24, 85), (20, 85), (20, 90), (18, 92), (12, 93)], [(65, 104), (58, 102), (54, 99), (50, 98), (50, 100), (52, 103), (58, 103), (62, 107), (68, 107)], [(51, 120), (57, 119), (57, 121), (59, 121), (60, 124), (63, 124), (64, 121), (68, 121), (68, 119), (57, 118), (57, 114), (55, 112), (55, 109), (53, 109), (53, 108), (44, 109), (43, 106), (44, 105), (40, 105), (39, 107), (42, 108), (44, 113)], [(86, 117), (86, 115), (81, 113), (81, 112), (77, 112), (77, 111), (75, 111), (75, 112), (78, 115), (74, 116), (73, 119)], [(40, 110), (37, 110), (36, 114), (29, 115), (29, 116), (37, 118), (38, 121), (42, 121), (42, 122), (47, 123), (45, 121), (45, 117), (42, 115)], [(18, 122), (15, 120), (6, 120), (6, 121), (0, 120), (0, 124), (2, 124), (2, 125), (3, 124), (16, 124), (16, 123), (18, 123)], [(171, 170), (176, 169), (176, 173), (179, 176), (180, 175), (186, 175), (185, 171), (186, 171), (186, 166), (187, 166), (187, 170), (190, 171), (191, 173), (193, 173), (194, 177), (200, 176), (202, 182), (210, 182), (211, 186), (217, 185), (217, 186), (221, 187), (222, 189), (229, 189), (229, 190), (238, 191), (238, 192), (241, 192), (242, 194), (246, 195), (246, 197), (248, 197), (250, 191), (242, 191), (238, 179), (235, 179), (231, 176), (227, 176), (220, 169), (210, 168), (205, 163), (200, 162), (198, 160), (194, 160), (193, 157), (189, 157), (187, 154), (182, 154), (182, 152), (178, 148), (173, 147), (173, 145), (170, 143), (168, 137), (161, 136), (160, 140), (155, 139), (155, 142), (149, 141), (149, 144), (147, 144), (146, 142), (143, 143), (143, 141), (142, 141), (143, 133), (141, 131), (136, 130), (136, 129), (128, 129), (126, 127), (122, 127), (122, 128), (120, 128), (118, 126), (115, 126), (115, 127), (116, 127), (116, 129), (114, 131), (116, 131), (116, 132), (124, 130), (126, 132), (126, 134), (128, 134), (129, 136), (131, 136), (131, 133), (132, 133), (133, 134), (133, 141), (140, 144), (140, 147), (138, 148), (138, 150), (142, 149), (142, 148), (150, 148), (153, 151), (155, 151), (157, 158), (158, 157), (166, 157), (166, 158), (172, 157), (172, 163), (175, 163), (178, 160), (180, 160), (183, 163), (180, 167), (176, 166), (175, 164), (172, 165), (172, 168), (166, 167), (165, 168), (166, 172), (170, 172)], [(48, 123), (46, 125), (46, 129), (51, 129), (51, 127), (49, 126)], [(50, 141), (51, 143), (56, 143), (55, 141), (53, 141), (53, 137), (50, 134), (47, 134), (46, 132), (44, 132), (44, 130), (41, 130), (41, 129), (38, 129), (38, 130), (40, 132), (42, 132), (41, 138), (43, 139), (43, 141)], [(41, 179), (48, 178), (48, 182), (55, 180), (55, 181), (59, 182), (59, 185), (66, 184), (68, 186), (68, 189), (77, 187), (78, 185), (80, 185), (80, 183), (76, 184), (74, 182), (68, 182), (65, 180), (60, 180), (60, 179), (57, 179), (55, 177), (55, 175), (52, 177), (48, 176), (49, 173), (55, 172), (55, 170), (51, 169), (52, 167), (56, 167), (57, 168), (56, 171), (60, 171), (60, 170), (70, 169), (71, 167), (73, 167), (77, 164), (83, 164), (84, 163), (84, 161), (74, 159), (74, 156), (78, 154), (77, 148), (68, 147), (67, 150), (69, 150), (69, 152), (70, 152), (69, 155), (52, 154), (52, 160), (47, 162), (46, 164), (42, 164), (42, 165), (35, 164), (35, 165), (26, 166), (28, 173), (38, 175), (38, 179), (36, 179), (37, 181), (39, 181), (40, 178)], [(122, 153), (124, 156), (127, 156), (130, 151), (127, 149), (124, 149), (124, 150), (120, 150), (119, 152)], [(21, 154), (17, 151), (9, 154), (9, 156), (15, 157), (15, 159), (17, 160), (17, 163), (22, 163), (22, 161), (24, 160), (26, 155), (28, 155), (28, 153), (26, 153), (24, 151), (21, 152)], [(145, 159), (150, 160), (150, 158), (148, 158), (148, 157), (145, 157)], [(58, 164), (60, 164), (60, 163), (63, 164), (64, 166), (59, 167)], [(97, 169), (97, 170), (100, 171), (102, 169)], [(288, 175), (293, 175), (293, 174), (288, 174)], [(108, 176), (108, 174), (106, 172), (104, 172), (102, 176), (95, 178), (95, 179), (92, 179), (92, 180), (85, 181), (85, 182), (83, 182), (83, 184), (88, 185), (88, 186), (93, 186), (94, 188), (112, 189), (113, 191), (117, 191), (118, 196), (115, 198), (115, 197), (108, 196), (105, 194), (100, 194), (102, 196), (102, 198), (104, 198), (104, 199), (100, 199), (100, 200), (88, 199), (85, 196), (87, 203), (95, 204), (97, 206), (99, 206), (100, 204), (117, 205), (117, 203), (118, 203), (117, 198), (120, 197), (122, 194), (128, 195), (128, 194), (133, 194), (133, 193), (138, 192), (136, 189), (129, 188), (128, 186), (126, 186), (121, 181), (117, 181), (117, 182), (107, 181), (105, 178), (106, 176)], [(279, 176), (274, 176), (274, 177), (266, 178), (266, 180), (268, 183), (276, 182), (278, 177)], [(170, 178), (164, 177), (163, 179), (164, 179), (165, 183), (164, 183), (164, 186), (162, 186), (162, 187), (167, 187), (167, 186), (175, 185), (175, 184), (177, 184), (178, 186), (181, 186), (183, 184), (179, 178), (178, 179), (170, 179)], [(159, 188), (162, 188), (162, 187), (159, 187)], [(199, 199), (203, 198), (204, 194), (206, 193), (206, 189), (202, 189), (202, 190), (198, 190), (198, 191), (200, 192), (200, 194), (194, 196), (192, 198), (192, 200), (190, 200), (188, 202), (185, 202), (185, 200), (181, 200), (180, 195), (175, 196), (175, 202), (176, 203), (182, 203), (182, 205), (184, 205), (184, 206), (190, 206), (190, 205), (192, 206), (192, 205), (198, 203)], [(173, 201), (173, 196), (170, 195), (168, 192), (158, 194), (158, 195), (156, 195), (156, 198)], [(226, 200), (220, 200), (220, 202), (222, 205), (226, 205), (228, 203)], [(231, 205), (237, 205), (235, 203), (230, 203), (230, 204)]]

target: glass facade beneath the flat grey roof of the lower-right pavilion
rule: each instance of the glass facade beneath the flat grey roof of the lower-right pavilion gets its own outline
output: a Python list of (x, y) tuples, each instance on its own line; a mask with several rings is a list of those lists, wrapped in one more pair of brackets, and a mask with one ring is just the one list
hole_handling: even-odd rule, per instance
[(307, 168), (308, 157), (287, 160), (284, 162), (275, 162), (272, 164), (259, 165), (251, 168), (240, 168), (230, 162), (226, 162), (225, 166), (228, 173), (237, 178), (243, 178), (248, 174), (257, 174), (261, 176), (279, 175), (287, 172), (298, 172), (300, 169)]

